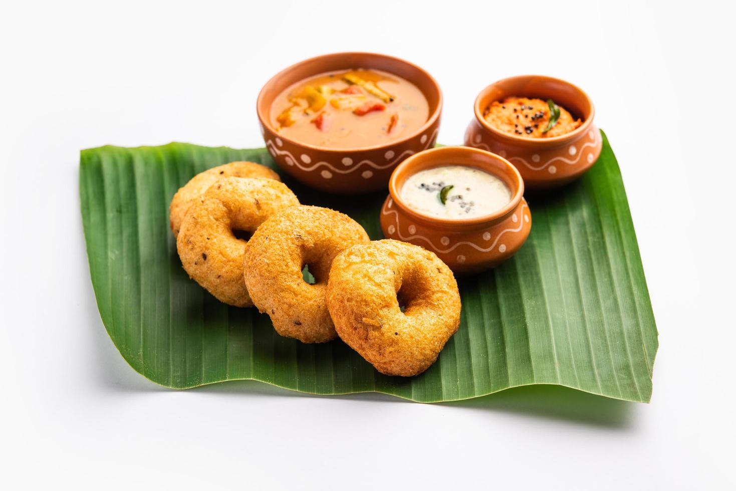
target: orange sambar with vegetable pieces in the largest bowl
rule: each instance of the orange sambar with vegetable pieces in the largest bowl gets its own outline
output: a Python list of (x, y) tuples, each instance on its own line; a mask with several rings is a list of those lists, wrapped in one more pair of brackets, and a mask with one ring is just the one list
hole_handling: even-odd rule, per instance
[(333, 71), (286, 88), (270, 119), (280, 135), (302, 144), (356, 149), (400, 140), (429, 118), (416, 85), (378, 70)]

